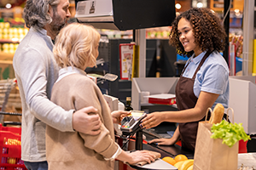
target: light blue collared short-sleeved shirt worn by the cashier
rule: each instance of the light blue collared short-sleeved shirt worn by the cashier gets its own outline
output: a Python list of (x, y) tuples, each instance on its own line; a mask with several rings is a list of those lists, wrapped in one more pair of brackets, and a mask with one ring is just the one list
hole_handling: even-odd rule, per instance
[[(192, 78), (201, 59), (207, 52), (202, 52), (197, 57), (193, 54), (187, 61), (188, 67), (183, 72), (183, 77)], [(195, 57), (195, 58), (194, 58)], [(197, 72), (194, 83), (194, 94), (198, 98), (201, 91), (219, 94), (218, 99), (212, 105), (212, 110), (218, 103), (228, 108), (230, 99), (229, 66), (223, 56), (217, 51), (212, 52), (201, 69)]]

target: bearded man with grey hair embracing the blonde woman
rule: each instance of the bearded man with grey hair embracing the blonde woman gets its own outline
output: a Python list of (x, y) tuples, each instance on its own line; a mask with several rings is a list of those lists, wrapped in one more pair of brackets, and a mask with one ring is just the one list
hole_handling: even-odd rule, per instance
[(24, 8), (30, 30), (16, 50), (13, 65), (22, 103), (21, 159), (29, 170), (48, 169), (46, 124), (62, 132), (101, 132), (100, 117), (88, 115), (96, 113), (95, 108), (64, 111), (49, 100), (59, 72), (53, 42), (71, 15), (68, 7), (69, 0), (27, 0)]

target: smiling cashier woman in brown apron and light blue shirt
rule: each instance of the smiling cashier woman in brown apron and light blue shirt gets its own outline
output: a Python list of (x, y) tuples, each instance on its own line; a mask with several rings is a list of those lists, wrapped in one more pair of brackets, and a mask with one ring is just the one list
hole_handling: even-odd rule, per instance
[(217, 14), (207, 8), (191, 8), (172, 23), (169, 42), (177, 53), (189, 56), (176, 86), (178, 111), (156, 111), (146, 116), (141, 126), (156, 127), (160, 122), (178, 122), (171, 139), (149, 143), (172, 145), (181, 139), (184, 150), (195, 150), (198, 122), (207, 108), (229, 104), (229, 67), (223, 56), (225, 31)]

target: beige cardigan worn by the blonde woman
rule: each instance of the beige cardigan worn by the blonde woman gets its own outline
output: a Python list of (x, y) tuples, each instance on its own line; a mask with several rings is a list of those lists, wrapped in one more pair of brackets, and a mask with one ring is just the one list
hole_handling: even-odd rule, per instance
[[(85, 74), (85, 73), (84, 73)], [(61, 132), (46, 127), (46, 156), (49, 170), (113, 169), (111, 158), (118, 150), (114, 142), (113, 120), (107, 102), (96, 83), (81, 74), (71, 74), (55, 82), (51, 100), (65, 110), (76, 111), (94, 106), (102, 120), (102, 132), (91, 136), (78, 132)]]

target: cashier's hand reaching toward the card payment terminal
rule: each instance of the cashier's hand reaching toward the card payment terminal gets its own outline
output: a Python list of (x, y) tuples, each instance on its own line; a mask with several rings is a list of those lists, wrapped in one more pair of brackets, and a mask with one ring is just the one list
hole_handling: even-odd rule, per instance
[(151, 128), (156, 127), (161, 122), (164, 122), (165, 118), (161, 112), (153, 112), (148, 114), (143, 120), (141, 121), (141, 127), (143, 128)]

